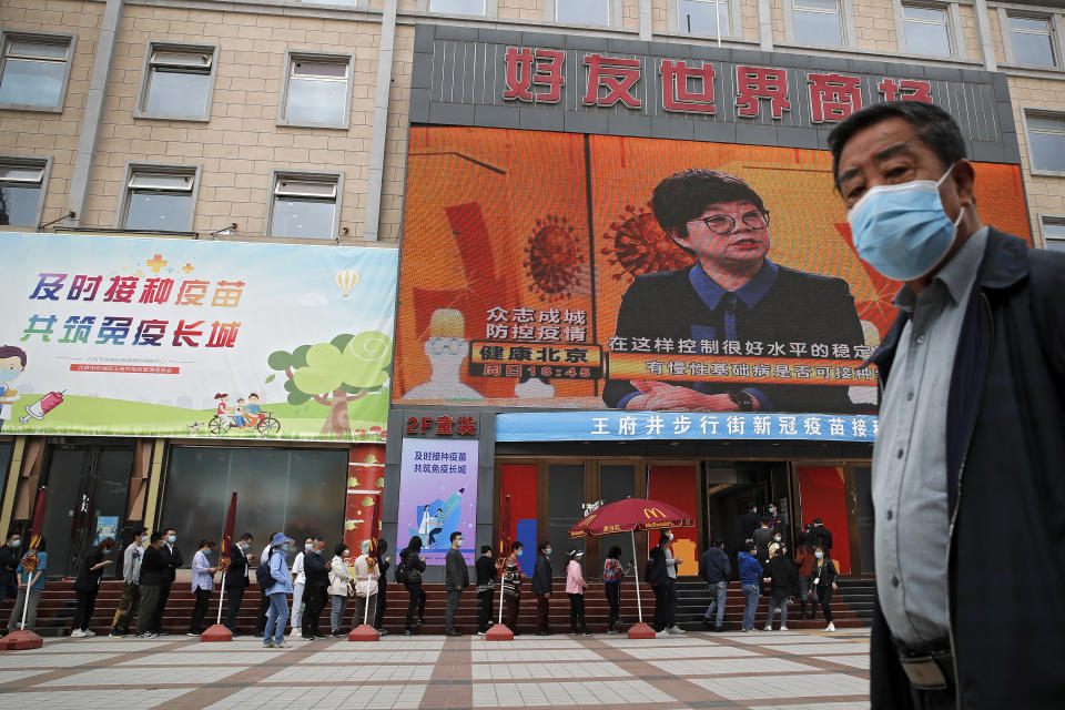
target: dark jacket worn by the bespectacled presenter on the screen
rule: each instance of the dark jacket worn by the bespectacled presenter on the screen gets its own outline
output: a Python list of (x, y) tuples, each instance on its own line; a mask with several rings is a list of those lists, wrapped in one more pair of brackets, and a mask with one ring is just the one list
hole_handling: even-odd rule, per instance
[[(618, 307), (617, 336), (724, 341), (726, 298), (711, 311), (689, 281), (693, 266), (637, 276)], [(736, 336), (740, 343), (846, 343), (865, 342), (854, 310), (854, 297), (842, 278), (808, 274), (777, 265), (769, 291), (748, 308), (736, 306)], [(631, 351), (630, 351), (631, 352)], [(647, 355), (653, 355), (653, 349)], [(667, 353), (669, 354), (669, 353)], [(676, 355), (676, 351), (671, 353)], [(661, 355), (661, 353), (660, 353)], [(767, 351), (763, 351), (767, 355)], [(768, 355), (767, 355), (768, 356)], [(789, 353), (787, 357), (792, 357)], [(809, 353), (805, 354), (809, 357)], [(723, 394), (743, 388), (731, 383), (670, 382), (703, 394)], [(833, 385), (757, 385), (775, 412), (845, 414), (855, 407), (846, 387)], [(627, 379), (610, 379), (602, 392), (608, 407), (638, 390)]]

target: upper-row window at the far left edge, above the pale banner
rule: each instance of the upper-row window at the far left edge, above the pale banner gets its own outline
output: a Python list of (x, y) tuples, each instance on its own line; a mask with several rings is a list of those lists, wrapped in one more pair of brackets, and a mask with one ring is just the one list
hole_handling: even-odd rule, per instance
[(73, 39), (3, 34), (0, 105), (62, 111)]

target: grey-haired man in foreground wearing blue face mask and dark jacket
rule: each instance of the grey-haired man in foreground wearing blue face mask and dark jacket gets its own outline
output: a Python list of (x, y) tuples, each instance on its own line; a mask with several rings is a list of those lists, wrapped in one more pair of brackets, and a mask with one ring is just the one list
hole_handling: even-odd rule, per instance
[(859, 255), (905, 282), (872, 358), (872, 707), (1059, 708), (1061, 536), (1018, 546), (986, 526), (1062, 527), (1065, 255), (981, 223), (942, 109), (870, 106), (829, 146)]

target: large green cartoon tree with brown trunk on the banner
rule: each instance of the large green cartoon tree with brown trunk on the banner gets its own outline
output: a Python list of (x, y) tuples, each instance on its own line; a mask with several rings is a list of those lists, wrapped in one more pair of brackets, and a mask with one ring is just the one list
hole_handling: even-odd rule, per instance
[(347, 405), (376, 392), (392, 371), (392, 338), (378, 331), (337, 335), (328, 343), (270, 354), (271, 369), (285, 373), (288, 404), (314, 399), (329, 408), (322, 434), (351, 438)]

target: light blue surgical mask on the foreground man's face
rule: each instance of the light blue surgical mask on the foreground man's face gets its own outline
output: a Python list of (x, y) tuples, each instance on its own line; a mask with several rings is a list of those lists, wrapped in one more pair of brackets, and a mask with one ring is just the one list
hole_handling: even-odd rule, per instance
[(946, 256), (957, 237), (957, 221), (943, 211), (939, 181), (914, 180), (871, 187), (846, 214), (862, 261), (895, 281), (924, 276)]

